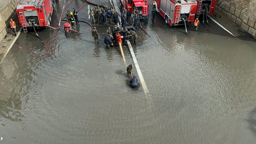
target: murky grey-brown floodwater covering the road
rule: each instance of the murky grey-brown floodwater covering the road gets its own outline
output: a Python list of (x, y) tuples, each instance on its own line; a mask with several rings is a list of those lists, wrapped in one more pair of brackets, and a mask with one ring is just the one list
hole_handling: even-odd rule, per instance
[[(79, 19), (88, 20), (86, 11)], [(197, 32), (189, 25), (185, 35), (157, 15), (143, 25), (150, 37), (138, 30), (132, 46), (147, 94), (129, 87), (132, 57), (124, 46), (125, 64), (117, 47), (105, 49), (103, 26), (96, 45), (91, 33), (48, 28), (38, 32), (43, 44), (21, 33), (0, 65), (0, 143), (254, 144), (255, 40), (210, 25)]]

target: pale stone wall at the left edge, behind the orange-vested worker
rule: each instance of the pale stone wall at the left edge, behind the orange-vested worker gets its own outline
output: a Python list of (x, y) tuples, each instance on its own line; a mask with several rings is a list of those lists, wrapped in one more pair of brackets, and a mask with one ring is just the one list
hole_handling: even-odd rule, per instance
[(8, 22), (12, 14), (16, 12), (18, 2), (19, 0), (0, 0), (0, 41), (7, 34), (6, 22)]

